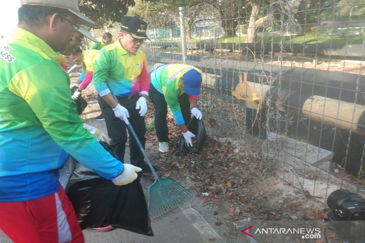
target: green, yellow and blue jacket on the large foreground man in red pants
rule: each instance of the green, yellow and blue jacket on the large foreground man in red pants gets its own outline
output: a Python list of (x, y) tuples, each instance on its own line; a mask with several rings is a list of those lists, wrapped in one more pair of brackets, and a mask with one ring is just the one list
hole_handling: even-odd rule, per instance
[(59, 54), (17, 28), (0, 44), (0, 201), (54, 193), (68, 154), (106, 179), (123, 164), (83, 128)]

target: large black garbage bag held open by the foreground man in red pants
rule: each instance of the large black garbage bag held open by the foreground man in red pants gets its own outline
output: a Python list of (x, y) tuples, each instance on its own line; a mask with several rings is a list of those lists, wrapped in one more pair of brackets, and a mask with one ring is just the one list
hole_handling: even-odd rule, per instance
[[(110, 145), (100, 143), (115, 156)], [(82, 230), (111, 225), (153, 236), (139, 177), (130, 184), (117, 186), (78, 163), (65, 191)]]

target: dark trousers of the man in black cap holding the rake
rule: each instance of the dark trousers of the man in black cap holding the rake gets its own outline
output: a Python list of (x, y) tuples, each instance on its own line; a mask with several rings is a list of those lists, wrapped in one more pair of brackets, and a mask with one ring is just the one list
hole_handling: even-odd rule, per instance
[[(139, 95), (133, 95), (131, 97), (117, 97), (121, 106), (124, 106), (129, 113), (129, 122), (132, 125), (139, 141), (145, 149), (146, 144), (146, 125), (145, 117), (141, 117), (136, 110), (136, 102), (139, 99)], [(101, 111), (105, 116), (105, 124), (107, 125), (108, 136), (111, 138), (110, 145), (115, 150), (116, 155), (120, 161), (124, 161), (124, 153), (126, 150), (127, 142), (127, 130), (129, 133), (129, 149), (130, 149), (130, 161), (132, 165), (143, 167), (146, 166), (144, 156), (138, 147), (132, 133), (128, 129), (128, 126), (120, 118), (114, 115), (114, 111), (110, 105), (104, 101), (99, 95), (97, 97)]]

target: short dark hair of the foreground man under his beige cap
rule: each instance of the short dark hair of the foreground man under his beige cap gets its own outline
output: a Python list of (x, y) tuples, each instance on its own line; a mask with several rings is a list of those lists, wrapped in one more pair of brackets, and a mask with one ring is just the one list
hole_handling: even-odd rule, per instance
[[(70, 11), (62, 8), (38, 6), (38, 5), (23, 5), (18, 9), (18, 23), (27, 23), (31, 26), (39, 26), (46, 17), (54, 13), (61, 15), (70, 15)], [(64, 21), (62, 19), (62, 21)]]

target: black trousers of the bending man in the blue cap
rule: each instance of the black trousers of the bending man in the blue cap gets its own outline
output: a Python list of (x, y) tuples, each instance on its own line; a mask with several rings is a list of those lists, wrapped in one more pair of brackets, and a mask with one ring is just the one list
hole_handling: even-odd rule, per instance
[[(166, 116), (167, 116), (167, 103), (165, 96), (158, 92), (153, 85), (150, 85), (149, 96), (153, 102), (155, 108), (155, 129), (159, 142), (169, 142), (169, 130), (167, 128)], [(178, 97), (180, 103), (181, 113), (185, 121), (185, 125), (188, 125), (191, 120), (190, 114), (190, 102), (188, 95), (183, 93)]]

